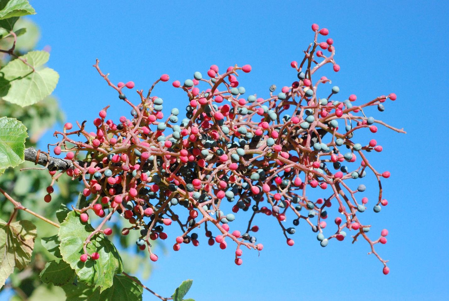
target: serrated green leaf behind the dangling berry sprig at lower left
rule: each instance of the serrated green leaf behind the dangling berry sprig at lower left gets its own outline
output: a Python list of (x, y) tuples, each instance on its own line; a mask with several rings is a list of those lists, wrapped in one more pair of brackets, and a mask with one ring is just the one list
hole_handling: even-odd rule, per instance
[(94, 229), (88, 223), (84, 224), (79, 219), (79, 213), (69, 212), (59, 229), (61, 240), (60, 251), (62, 259), (75, 270), (78, 280), (90, 285), (100, 287), (100, 292), (112, 285), (114, 274), (123, 271), (122, 259), (114, 244), (101, 233), (97, 233), (87, 245), (88, 253), (98, 252), (100, 258), (89, 259), (81, 262), (79, 257), (84, 254), (84, 241)]

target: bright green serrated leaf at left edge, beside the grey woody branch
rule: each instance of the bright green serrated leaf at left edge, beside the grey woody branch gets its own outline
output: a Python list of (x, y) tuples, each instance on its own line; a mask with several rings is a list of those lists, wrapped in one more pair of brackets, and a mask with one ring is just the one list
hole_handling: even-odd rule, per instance
[(21, 164), (25, 157), (26, 127), (15, 118), (0, 117), (0, 169)]

